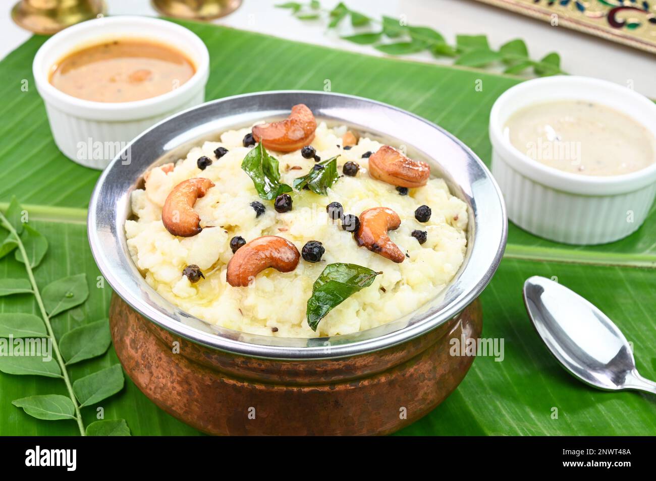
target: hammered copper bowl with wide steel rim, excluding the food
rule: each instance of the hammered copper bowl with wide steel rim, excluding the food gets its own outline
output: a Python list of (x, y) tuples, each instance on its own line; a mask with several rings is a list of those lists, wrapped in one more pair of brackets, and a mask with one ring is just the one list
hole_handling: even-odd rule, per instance
[[(468, 205), (464, 263), (417, 311), (355, 334), (297, 339), (211, 326), (161, 298), (136, 269), (123, 229), (131, 192), (152, 166), (225, 130), (284, 117), (299, 103), (329, 125), (403, 144), (430, 163)], [(476, 299), (501, 261), (506, 233), (499, 187), (466, 145), (396, 107), (327, 92), (245, 94), (174, 115), (117, 155), (89, 204), (89, 243), (115, 291), (110, 322), (125, 371), (158, 406), (211, 434), (385, 434), (419, 419), (473, 361), (450, 354), (452, 339), (480, 337)]]

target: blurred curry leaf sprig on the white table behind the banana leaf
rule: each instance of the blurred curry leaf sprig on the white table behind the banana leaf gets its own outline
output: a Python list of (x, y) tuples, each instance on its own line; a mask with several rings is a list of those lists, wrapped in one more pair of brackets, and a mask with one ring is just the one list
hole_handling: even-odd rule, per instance
[(455, 45), (448, 43), (440, 32), (429, 27), (411, 26), (398, 18), (383, 16), (381, 20), (352, 10), (338, 3), (332, 10), (321, 9), (317, 0), (310, 3), (287, 2), (276, 5), (290, 9), (299, 20), (319, 20), (327, 17), (328, 28), (337, 28), (344, 19), (350, 18), (355, 28), (371, 26), (375, 29), (344, 35), (342, 39), (361, 45), (373, 45), (388, 55), (404, 55), (428, 51), (435, 57), (452, 57), (454, 63), (467, 67), (486, 67), (503, 64), (504, 73), (518, 75), (532, 68), (539, 77), (565, 73), (560, 69), (560, 56), (550, 52), (541, 60), (532, 60), (522, 39), (514, 39), (494, 50), (485, 35), (457, 35)]

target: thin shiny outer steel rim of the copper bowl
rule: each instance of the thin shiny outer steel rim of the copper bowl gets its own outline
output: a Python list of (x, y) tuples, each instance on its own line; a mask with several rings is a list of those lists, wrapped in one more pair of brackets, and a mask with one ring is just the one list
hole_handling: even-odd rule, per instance
[[(186, 324), (182, 324), (182, 322), (178, 322), (177, 320), (174, 320), (173, 318), (167, 315), (161, 315), (159, 311), (152, 309), (149, 305), (147, 305), (143, 301), (143, 299), (141, 299), (138, 296), (134, 296), (133, 292), (130, 292), (129, 290), (125, 289), (125, 286), (121, 284), (120, 280), (112, 271), (111, 267), (107, 265), (104, 259), (102, 258), (103, 246), (102, 243), (100, 242), (100, 239), (98, 239), (97, 237), (98, 232), (96, 230), (97, 225), (96, 225), (95, 214), (98, 209), (100, 191), (103, 188), (104, 183), (106, 182), (106, 179), (108, 178), (110, 172), (112, 172), (112, 168), (115, 166), (115, 164), (121, 161), (121, 153), (119, 153), (108, 165), (108, 167), (104, 170), (104, 172), (102, 172), (100, 178), (98, 178), (96, 186), (94, 187), (94, 191), (91, 195), (91, 200), (89, 202), (89, 214), (87, 220), (87, 227), (88, 227), (87, 233), (89, 237), (89, 244), (91, 246), (92, 255), (94, 257), (94, 260), (96, 261), (96, 264), (98, 265), (98, 268), (100, 269), (100, 272), (104, 276), (104, 279), (108, 281), (108, 284), (110, 284), (110, 286), (112, 286), (114, 292), (140, 315), (144, 316), (151, 322), (154, 322), (155, 324), (157, 324), (157, 326), (173, 334), (182, 336), (185, 339), (188, 339), (189, 341), (192, 341), (199, 345), (203, 345), (205, 347), (210, 347), (213, 349), (218, 349), (220, 351), (226, 351), (237, 355), (245, 355), (245, 356), (251, 356), (256, 358), (279, 359), (279, 360), (342, 358), (346, 356), (362, 355), (374, 351), (380, 351), (381, 349), (386, 349), (388, 347), (392, 347), (404, 343), (405, 341), (415, 339), (415, 337), (419, 337), (422, 334), (425, 334), (426, 332), (429, 332), (430, 330), (437, 328), (444, 322), (447, 322), (447, 320), (461, 313), (461, 311), (465, 307), (467, 307), (472, 301), (474, 301), (474, 299), (478, 298), (478, 296), (483, 291), (485, 286), (489, 284), (495, 271), (497, 270), (497, 267), (501, 262), (506, 247), (506, 240), (508, 236), (508, 220), (506, 216), (506, 206), (502, 197), (501, 189), (499, 188), (499, 185), (497, 185), (497, 182), (493, 178), (487, 166), (483, 164), (483, 162), (476, 155), (476, 153), (472, 151), (472, 149), (470, 149), (466, 144), (464, 144), (464, 142), (453, 136), (453, 134), (447, 132), (447, 130), (420, 117), (419, 115), (415, 115), (414, 113), (405, 111), (403, 109), (400, 109), (399, 107), (390, 106), (389, 104), (385, 104), (384, 102), (378, 102), (376, 100), (371, 100), (368, 98), (348, 95), (348, 94), (337, 94), (333, 92), (322, 92), (316, 90), (270, 90), (266, 92), (249, 92), (246, 94), (237, 94), (234, 96), (228, 96), (216, 100), (211, 100), (199, 106), (190, 107), (186, 110), (180, 111), (179, 113), (176, 113), (171, 117), (168, 117), (167, 119), (163, 119), (162, 121), (159, 121), (152, 127), (148, 128), (147, 130), (144, 130), (144, 132), (142, 132), (139, 136), (137, 136), (131, 141), (131, 143), (126, 147), (126, 149), (131, 148), (131, 146), (136, 144), (138, 140), (140, 140), (150, 132), (154, 131), (156, 128), (159, 128), (161, 125), (165, 125), (166, 123), (172, 121), (173, 119), (176, 119), (177, 117), (181, 117), (182, 115), (185, 115), (186, 113), (189, 113), (191, 111), (201, 109), (207, 106), (220, 105), (224, 102), (230, 102), (231, 100), (237, 100), (242, 98), (255, 98), (257, 96), (269, 96), (269, 95), (276, 95), (276, 94), (299, 94), (299, 95), (308, 95), (308, 96), (319, 94), (319, 95), (337, 96), (341, 98), (349, 98), (353, 100), (367, 102), (369, 104), (373, 104), (376, 106), (385, 107), (386, 109), (392, 109), (392, 111), (396, 111), (401, 115), (407, 115), (409, 117), (413, 117), (414, 119), (417, 119), (418, 121), (430, 126), (431, 128), (438, 130), (439, 132), (447, 136), (452, 142), (455, 142), (455, 144), (457, 144), (464, 151), (464, 153), (468, 155), (468, 158), (474, 161), (474, 163), (477, 164), (478, 168), (480, 168), (482, 172), (485, 174), (486, 181), (491, 183), (491, 186), (493, 187), (497, 195), (497, 198), (499, 200), (499, 208), (501, 209), (501, 217), (502, 217), (501, 235), (499, 236), (495, 253), (491, 258), (489, 265), (487, 265), (484, 272), (480, 275), (478, 282), (470, 286), (470, 288), (466, 290), (466, 292), (463, 292), (461, 298), (457, 299), (456, 302), (453, 302), (445, 306), (443, 309), (441, 309), (434, 315), (430, 317), (426, 317), (422, 319), (420, 322), (417, 322), (411, 326), (405, 326), (403, 328), (394, 330), (393, 332), (384, 334), (382, 336), (371, 337), (369, 339), (354, 341), (345, 344), (332, 345), (330, 343), (330, 339), (338, 339), (340, 337), (349, 336), (349, 335), (339, 335), (339, 336), (319, 338), (319, 339), (327, 339), (327, 343), (331, 345), (329, 353), (327, 353), (325, 347), (319, 345), (303, 346), (303, 347), (289, 347), (289, 346), (278, 346), (278, 345), (268, 345), (268, 344), (262, 345), (262, 344), (249, 343), (245, 341), (240, 341), (238, 339), (232, 339), (230, 337), (222, 337), (222, 336), (217, 336), (215, 334), (209, 334), (203, 332)], [(134, 180), (134, 182), (136, 183), (136, 179)], [(127, 254), (127, 258), (129, 259), (130, 263), (133, 262), (129, 254)], [(468, 260), (466, 260), (465, 263), (461, 266), (461, 269), (467, 269), (467, 267), (468, 267)], [(150, 289), (152, 290), (152, 288)], [(155, 295), (159, 296), (159, 294), (157, 294), (154, 290), (152, 291), (155, 293)], [(194, 318), (193, 316), (188, 314), (186, 315), (186, 317)], [(395, 321), (391, 321), (391, 322), (395, 322)], [(237, 331), (233, 331), (233, 332), (237, 333)], [(363, 332), (367, 332), (367, 331), (361, 331), (360, 334)], [(267, 336), (253, 335), (253, 337), (267, 337)], [(298, 338), (285, 338), (285, 337), (267, 337), (267, 339), (300, 340)], [(307, 339), (302, 339), (302, 340), (307, 340)]]

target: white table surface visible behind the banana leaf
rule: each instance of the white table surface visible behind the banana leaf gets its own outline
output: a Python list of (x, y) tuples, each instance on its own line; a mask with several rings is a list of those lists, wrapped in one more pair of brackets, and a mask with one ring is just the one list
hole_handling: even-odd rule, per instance
[[(304, 0), (300, 0), (305, 3)], [(10, 18), (13, 1), (3, 1), (0, 14), (0, 58), (30, 37)], [(106, 0), (108, 14), (155, 15), (148, 0)], [(326, 31), (326, 22), (301, 21), (290, 10), (276, 9), (283, 0), (244, 0), (232, 14), (215, 20), (216, 24), (268, 33), (286, 39), (315, 43), (328, 47), (382, 55), (372, 47), (356, 45), (340, 39), (337, 33)], [(329, 8), (337, 1), (323, 0)], [(624, 47), (598, 37), (578, 33), (563, 27), (552, 27), (517, 14), (495, 9), (471, 0), (346, 0), (348, 7), (380, 18), (382, 14), (400, 18), (404, 15), (411, 25), (430, 26), (453, 41), (457, 33), (485, 33), (491, 47), (508, 40), (522, 38), (532, 58), (541, 58), (556, 51), (562, 58), (562, 68), (572, 75), (587, 75), (607, 79), (656, 99), (656, 56)], [(344, 22), (348, 24), (348, 22)], [(348, 27), (347, 27), (348, 28)], [(344, 31), (344, 33), (350, 33)], [(428, 53), (409, 56), (416, 60), (436, 62)], [(449, 59), (437, 60), (448, 63)]]

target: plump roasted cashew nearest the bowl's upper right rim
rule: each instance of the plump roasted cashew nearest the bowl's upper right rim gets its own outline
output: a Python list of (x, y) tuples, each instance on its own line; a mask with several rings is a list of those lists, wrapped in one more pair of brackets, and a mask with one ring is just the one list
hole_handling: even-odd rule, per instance
[(389, 145), (383, 145), (369, 157), (369, 175), (399, 187), (421, 187), (428, 182), (430, 166), (405, 157)]

